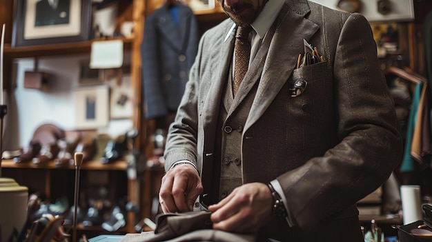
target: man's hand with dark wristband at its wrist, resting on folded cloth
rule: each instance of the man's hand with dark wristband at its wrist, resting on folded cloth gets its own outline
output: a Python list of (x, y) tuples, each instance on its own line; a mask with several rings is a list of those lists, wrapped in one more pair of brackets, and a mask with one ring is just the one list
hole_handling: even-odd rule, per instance
[(208, 206), (215, 230), (257, 232), (271, 219), (273, 198), (264, 183), (247, 183), (215, 205)]

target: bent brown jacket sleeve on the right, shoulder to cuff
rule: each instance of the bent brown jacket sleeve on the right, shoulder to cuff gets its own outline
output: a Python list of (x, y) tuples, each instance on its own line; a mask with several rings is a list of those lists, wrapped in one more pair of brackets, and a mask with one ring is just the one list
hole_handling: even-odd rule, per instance
[(350, 15), (333, 57), (340, 143), (277, 181), (305, 232), (378, 188), (402, 157), (402, 138), (368, 21)]

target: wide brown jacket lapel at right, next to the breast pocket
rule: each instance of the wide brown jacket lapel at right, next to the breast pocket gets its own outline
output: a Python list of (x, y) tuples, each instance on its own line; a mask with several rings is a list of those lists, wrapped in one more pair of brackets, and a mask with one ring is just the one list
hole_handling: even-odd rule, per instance
[[(245, 130), (250, 128), (264, 114), (268, 105), (275, 99), (288, 77), (291, 76), (298, 55), (304, 52), (303, 39), (310, 40), (319, 29), (317, 24), (304, 18), (310, 11), (306, 2), (297, 1), (297, 6), (290, 4), (286, 3), (284, 6), (290, 10), (282, 17), (270, 43), (264, 64), (265, 68), (249, 112), (250, 115), (246, 120)], [(293, 7), (297, 7), (297, 10)], [(283, 13), (281, 12), (281, 14)]]

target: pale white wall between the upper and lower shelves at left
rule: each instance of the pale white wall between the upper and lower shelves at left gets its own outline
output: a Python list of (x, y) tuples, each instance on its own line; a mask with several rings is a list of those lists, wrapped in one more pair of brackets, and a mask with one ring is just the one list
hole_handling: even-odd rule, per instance
[[(26, 147), (36, 128), (44, 123), (53, 123), (63, 130), (76, 130), (73, 91), (79, 83), (81, 64), (89, 62), (88, 56), (40, 58), (38, 70), (50, 74), (43, 90), (24, 88), (25, 72), (35, 70), (35, 59), (17, 59), (15, 62), (16, 88), (8, 102), (4, 149)], [(130, 128), (132, 120), (116, 119), (98, 131), (116, 137)]]

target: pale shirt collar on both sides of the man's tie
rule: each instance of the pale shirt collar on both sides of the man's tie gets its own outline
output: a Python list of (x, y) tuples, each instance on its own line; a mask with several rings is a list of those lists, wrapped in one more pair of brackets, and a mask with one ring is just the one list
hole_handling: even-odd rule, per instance
[[(252, 28), (257, 32), (259, 39), (264, 38), (264, 35), (275, 21), (277, 14), (279, 14), (285, 0), (268, 0), (262, 11), (259, 13), (257, 19), (251, 24)], [(235, 29), (235, 23), (226, 34), (224, 41), (228, 39), (230, 33)]]

